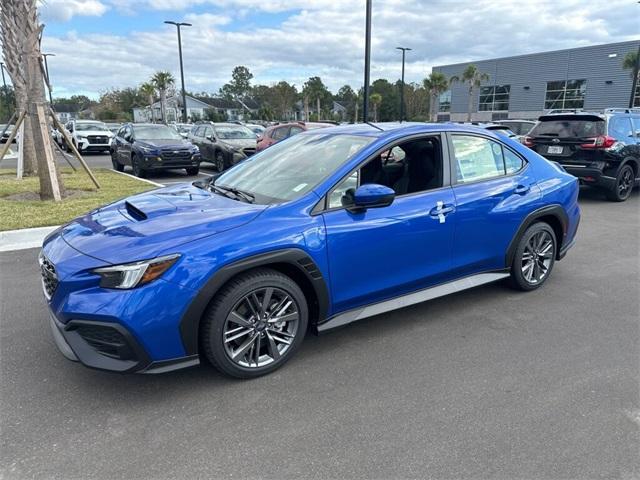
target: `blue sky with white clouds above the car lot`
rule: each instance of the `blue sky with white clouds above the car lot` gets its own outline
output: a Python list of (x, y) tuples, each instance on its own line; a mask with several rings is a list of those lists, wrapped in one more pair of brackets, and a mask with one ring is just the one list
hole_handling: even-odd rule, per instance
[[(364, 0), (42, 0), (43, 53), (54, 96), (97, 98), (157, 70), (185, 88), (217, 92), (236, 65), (254, 84), (301, 87), (322, 77), (332, 90), (363, 83)], [(371, 78), (420, 82), (435, 65), (635, 40), (636, 0), (373, 0)]]

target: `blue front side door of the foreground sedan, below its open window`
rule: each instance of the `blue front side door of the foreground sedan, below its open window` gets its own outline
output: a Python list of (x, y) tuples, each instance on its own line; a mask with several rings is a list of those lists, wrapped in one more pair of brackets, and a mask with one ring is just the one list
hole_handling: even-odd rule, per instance
[[(456, 216), (454, 195), (448, 186), (448, 167), (443, 168), (440, 136), (426, 141), (431, 147), (407, 147), (402, 160), (406, 162), (404, 175), (413, 174), (414, 178), (390, 179), (384, 171), (386, 165), (380, 158), (374, 158), (328, 195), (327, 210), (322, 215), (332, 314), (450, 279)], [(428, 168), (421, 168), (422, 161), (429, 163)], [(342, 208), (343, 192), (357, 188), (360, 183), (385, 184), (396, 191), (396, 198), (388, 207), (370, 208), (362, 213)]]

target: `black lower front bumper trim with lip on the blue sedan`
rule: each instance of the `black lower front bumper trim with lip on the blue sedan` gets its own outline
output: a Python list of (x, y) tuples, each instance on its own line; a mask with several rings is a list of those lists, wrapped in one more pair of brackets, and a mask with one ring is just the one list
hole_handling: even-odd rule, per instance
[(200, 363), (198, 355), (152, 361), (135, 338), (115, 323), (71, 320), (63, 324), (50, 314), (49, 326), (62, 355), (96, 370), (164, 373)]

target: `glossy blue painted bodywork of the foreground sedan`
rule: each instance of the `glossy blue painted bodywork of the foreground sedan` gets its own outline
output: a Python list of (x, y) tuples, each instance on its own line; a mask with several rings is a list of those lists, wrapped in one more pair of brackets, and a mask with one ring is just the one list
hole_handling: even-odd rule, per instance
[[(291, 202), (254, 205), (183, 184), (115, 202), (63, 226), (43, 245), (60, 279), (49, 302), (52, 313), (63, 323), (118, 323), (152, 360), (174, 359), (186, 354), (179, 325), (187, 308), (209, 279), (240, 259), (285, 248), (303, 250), (327, 284), (331, 316), (471, 273), (505, 268), (505, 252), (518, 227), (543, 206), (564, 209), (569, 219), (565, 243), (573, 240), (580, 217), (576, 179), (530, 149), (469, 126), (383, 128), (323, 129), (323, 135), (374, 140)], [(434, 132), (490, 138), (528, 164), (498, 179), (399, 196), (387, 207), (318, 211), (332, 187), (372, 154), (406, 137)], [(526, 192), (516, 191), (522, 185)], [(363, 194), (375, 193), (370, 190)], [(146, 219), (139, 218), (139, 211)], [(132, 290), (101, 288), (98, 275), (91, 273), (97, 267), (175, 253), (179, 260), (160, 280)]]

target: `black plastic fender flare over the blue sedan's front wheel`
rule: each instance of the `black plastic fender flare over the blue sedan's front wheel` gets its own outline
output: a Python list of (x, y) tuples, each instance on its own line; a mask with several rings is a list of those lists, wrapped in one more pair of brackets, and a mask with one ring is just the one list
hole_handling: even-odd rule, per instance
[(318, 300), (318, 321), (327, 316), (329, 289), (320, 269), (302, 249), (286, 248), (242, 258), (217, 270), (200, 289), (180, 320), (180, 337), (186, 355), (198, 353), (200, 319), (220, 288), (236, 275), (257, 267), (286, 264), (308, 280)]

